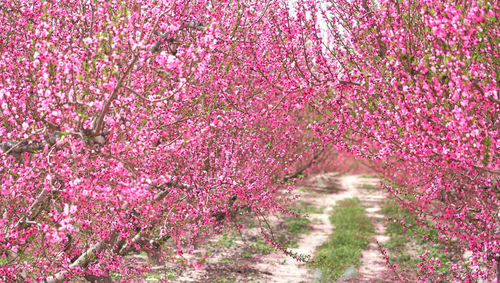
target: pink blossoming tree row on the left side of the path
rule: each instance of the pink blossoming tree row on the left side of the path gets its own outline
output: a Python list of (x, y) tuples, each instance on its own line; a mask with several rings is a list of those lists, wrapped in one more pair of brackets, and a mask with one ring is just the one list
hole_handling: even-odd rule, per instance
[(2, 280), (140, 273), (132, 251), (282, 210), (323, 153), (280, 1), (0, 6)]

